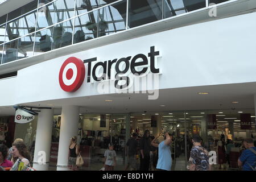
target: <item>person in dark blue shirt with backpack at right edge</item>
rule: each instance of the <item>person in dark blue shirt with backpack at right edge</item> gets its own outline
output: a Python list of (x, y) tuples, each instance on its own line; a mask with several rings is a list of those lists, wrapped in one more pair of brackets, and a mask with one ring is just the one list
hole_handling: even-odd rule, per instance
[(243, 146), (246, 150), (242, 152), (238, 158), (238, 166), (242, 167), (243, 171), (256, 171), (256, 147), (252, 138), (243, 140)]

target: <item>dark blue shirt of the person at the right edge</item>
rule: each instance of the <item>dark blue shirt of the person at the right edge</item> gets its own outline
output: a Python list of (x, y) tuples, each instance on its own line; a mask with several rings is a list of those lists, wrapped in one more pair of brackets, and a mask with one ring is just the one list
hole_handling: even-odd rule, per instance
[[(251, 148), (256, 151), (256, 147)], [(252, 151), (249, 149), (244, 150), (239, 159), (243, 163), (243, 171), (253, 171), (253, 169), (251, 169), (251, 167), (247, 164), (249, 163), (253, 168), (255, 168), (256, 155)]]

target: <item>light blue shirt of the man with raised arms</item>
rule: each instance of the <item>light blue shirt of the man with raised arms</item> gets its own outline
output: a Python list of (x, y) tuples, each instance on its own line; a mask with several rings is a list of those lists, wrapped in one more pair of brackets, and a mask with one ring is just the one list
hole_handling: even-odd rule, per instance
[(171, 171), (172, 167), (172, 156), (170, 146), (166, 146), (164, 141), (159, 143), (158, 146), (158, 165), (156, 169), (163, 169), (167, 171)]

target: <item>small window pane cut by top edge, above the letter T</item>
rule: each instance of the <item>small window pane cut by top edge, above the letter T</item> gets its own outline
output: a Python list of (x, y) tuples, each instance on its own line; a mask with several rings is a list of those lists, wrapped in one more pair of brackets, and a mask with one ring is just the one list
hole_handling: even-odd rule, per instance
[(98, 8), (98, 0), (77, 0), (76, 15), (86, 13)]

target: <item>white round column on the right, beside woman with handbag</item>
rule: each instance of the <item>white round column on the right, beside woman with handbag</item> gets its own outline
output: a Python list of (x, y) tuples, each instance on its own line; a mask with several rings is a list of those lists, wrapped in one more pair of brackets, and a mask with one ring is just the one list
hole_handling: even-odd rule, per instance
[(70, 139), (77, 136), (79, 125), (79, 106), (63, 106), (61, 110), (60, 140), (57, 171), (69, 171), (68, 152)]

